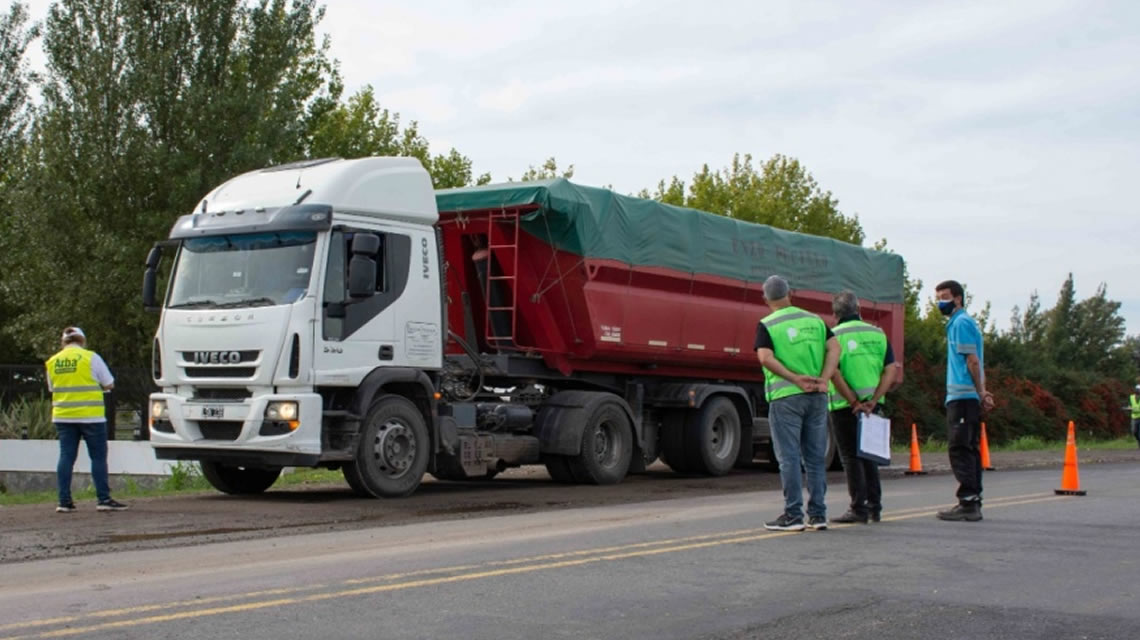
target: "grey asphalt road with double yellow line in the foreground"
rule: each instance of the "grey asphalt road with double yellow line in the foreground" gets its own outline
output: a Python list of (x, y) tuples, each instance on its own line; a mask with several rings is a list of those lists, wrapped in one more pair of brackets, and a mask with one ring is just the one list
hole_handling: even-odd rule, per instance
[(1140, 637), (1140, 465), (1058, 480), (987, 475), (982, 522), (927, 476), (828, 532), (762, 491), (13, 562), (0, 639)]

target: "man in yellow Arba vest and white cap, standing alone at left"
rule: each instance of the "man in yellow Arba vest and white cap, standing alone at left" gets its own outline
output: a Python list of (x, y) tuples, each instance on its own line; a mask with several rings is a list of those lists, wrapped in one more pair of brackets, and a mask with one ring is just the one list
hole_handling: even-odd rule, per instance
[(91, 481), (98, 499), (98, 511), (123, 511), (127, 505), (111, 497), (107, 481), (107, 418), (103, 394), (115, 386), (107, 364), (99, 354), (85, 349), (87, 337), (78, 326), (63, 334), (63, 349), (48, 358), (48, 389), (51, 390), (51, 421), (59, 434), (59, 504), (56, 511), (75, 510), (71, 495), (72, 469), (79, 455), (80, 438), (87, 443), (91, 457)]

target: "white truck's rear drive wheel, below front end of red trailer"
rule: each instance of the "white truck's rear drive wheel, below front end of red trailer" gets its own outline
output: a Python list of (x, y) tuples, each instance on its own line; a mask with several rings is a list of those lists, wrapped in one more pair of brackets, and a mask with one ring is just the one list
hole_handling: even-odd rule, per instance
[(629, 471), (634, 453), (629, 415), (616, 400), (595, 400), (583, 410), (581, 452), (569, 459), (570, 472), (584, 485), (616, 485)]

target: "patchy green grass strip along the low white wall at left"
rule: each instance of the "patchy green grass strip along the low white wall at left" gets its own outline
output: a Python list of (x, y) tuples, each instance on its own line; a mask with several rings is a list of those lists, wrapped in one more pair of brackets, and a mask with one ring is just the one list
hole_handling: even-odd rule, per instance
[[(212, 493), (213, 487), (202, 477), (201, 468), (195, 463), (180, 462), (171, 469), (171, 475), (162, 478), (156, 486), (144, 487), (133, 477), (122, 480), (122, 486), (113, 488), (112, 493), (116, 499), (128, 500), (131, 497), (158, 497), (164, 495), (190, 495), (195, 493)], [(290, 473), (283, 473), (275, 488), (282, 487), (308, 487), (324, 485), (343, 485), (344, 476), (340, 470), (328, 469), (296, 469)], [(347, 485), (345, 485), (347, 486)], [(11, 493), (0, 485), (0, 504), (44, 504), (54, 503), (58, 496), (55, 489)], [(72, 491), (72, 499), (75, 502), (93, 502), (95, 487), (76, 488)]]

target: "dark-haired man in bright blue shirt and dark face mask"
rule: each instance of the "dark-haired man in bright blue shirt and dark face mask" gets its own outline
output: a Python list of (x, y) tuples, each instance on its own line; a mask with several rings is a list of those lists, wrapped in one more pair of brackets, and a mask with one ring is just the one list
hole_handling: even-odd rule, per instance
[(982, 519), (982, 411), (994, 406), (986, 391), (982, 332), (966, 313), (962, 285), (947, 280), (934, 287), (946, 323), (946, 441), (958, 480), (958, 504), (938, 512), (942, 520)]

